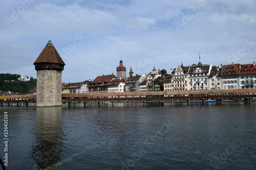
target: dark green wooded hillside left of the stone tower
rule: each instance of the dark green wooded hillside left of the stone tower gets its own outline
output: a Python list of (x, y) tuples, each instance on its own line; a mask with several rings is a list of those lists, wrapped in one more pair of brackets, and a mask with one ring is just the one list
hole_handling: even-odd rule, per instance
[(18, 81), (20, 75), (0, 74), (0, 91), (13, 91), (14, 93), (28, 93), (36, 87), (36, 79), (30, 77), (30, 81)]

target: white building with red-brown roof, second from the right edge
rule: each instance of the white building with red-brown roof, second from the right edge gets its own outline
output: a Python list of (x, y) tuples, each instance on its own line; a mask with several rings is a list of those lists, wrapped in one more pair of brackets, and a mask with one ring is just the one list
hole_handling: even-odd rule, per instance
[(222, 89), (238, 89), (239, 88), (239, 68), (240, 64), (233, 62), (228, 65), (221, 64), (221, 85)]

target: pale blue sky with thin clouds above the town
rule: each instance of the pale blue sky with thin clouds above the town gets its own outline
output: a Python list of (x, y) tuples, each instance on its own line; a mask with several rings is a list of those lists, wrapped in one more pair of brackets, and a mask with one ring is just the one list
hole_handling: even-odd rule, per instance
[(51, 40), (66, 63), (62, 82), (129, 76), (183, 63), (249, 64), (256, 58), (256, 1), (3, 1), (0, 73), (36, 78), (34, 61)]

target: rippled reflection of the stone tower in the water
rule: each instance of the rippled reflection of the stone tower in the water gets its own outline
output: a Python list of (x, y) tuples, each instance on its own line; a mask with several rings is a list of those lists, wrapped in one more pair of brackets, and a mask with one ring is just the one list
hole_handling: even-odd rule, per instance
[(36, 141), (32, 146), (34, 169), (50, 168), (61, 160), (63, 146), (61, 107), (36, 108)]

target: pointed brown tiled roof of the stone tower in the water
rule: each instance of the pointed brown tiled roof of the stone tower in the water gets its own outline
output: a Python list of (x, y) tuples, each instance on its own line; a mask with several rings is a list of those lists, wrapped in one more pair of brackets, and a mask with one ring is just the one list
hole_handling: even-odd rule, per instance
[(57, 50), (52, 44), (52, 41), (46, 44), (44, 50), (40, 53), (34, 62), (35, 69), (57, 69), (63, 70), (65, 62), (59, 56)]

